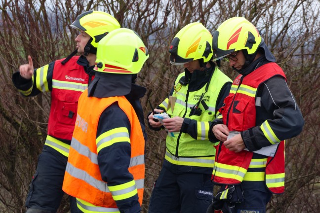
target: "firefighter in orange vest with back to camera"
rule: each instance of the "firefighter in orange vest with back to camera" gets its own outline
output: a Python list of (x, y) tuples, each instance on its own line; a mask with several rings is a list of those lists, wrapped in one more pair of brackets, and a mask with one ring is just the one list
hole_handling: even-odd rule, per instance
[(126, 96), (138, 100), (145, 94), (131, 81), (148, 58), (129, 29), (114, 30), (98, 44), (95, 78), (79, 99), (63, 182), (80, 212), (141, 212), (145, 140)]

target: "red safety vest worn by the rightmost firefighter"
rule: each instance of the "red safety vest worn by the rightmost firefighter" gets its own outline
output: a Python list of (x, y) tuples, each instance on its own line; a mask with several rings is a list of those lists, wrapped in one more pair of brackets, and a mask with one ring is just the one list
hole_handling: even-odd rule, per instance
[[(257, 88), (275, 75), (285, 78), (282, 69), (276, 63), (268, 63), (244, 76), (239, 75), (233, 82), (225, 105), (220, 108), (223, 123), (230, 131), (245, 131), (256, 126), (255, 98)], [(241, 84), (240, 84), (241, 82)], [(250, 165), (253, 153), (242, 150), (238, 153), (227, 149), (223, 143), (216, 147), (216, 162), (212, 181), (220, 184), (240, 184)], [(268, 157), (265, 181), (273, 193), (284, 191), (284, 141), (278, 144), (274, 157)]]

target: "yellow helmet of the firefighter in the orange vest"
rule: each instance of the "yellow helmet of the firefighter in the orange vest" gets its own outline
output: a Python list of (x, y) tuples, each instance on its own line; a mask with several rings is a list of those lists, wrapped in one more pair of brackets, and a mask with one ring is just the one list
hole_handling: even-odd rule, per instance
[(132, 30), (120, 28), (101, 39), (95, 71), (135, 74), (149, 58), (147, 47)]

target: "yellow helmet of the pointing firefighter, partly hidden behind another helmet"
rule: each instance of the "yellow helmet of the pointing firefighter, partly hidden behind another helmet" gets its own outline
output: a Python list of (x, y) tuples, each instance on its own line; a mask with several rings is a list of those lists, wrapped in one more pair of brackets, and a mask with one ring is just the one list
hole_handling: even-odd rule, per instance
[(98, 42), (111, 31), (119, 29), (120, 24), (109, 13), (93, 10), (81, 13), (70, 27), (82, 30), (91, 37), (84, 51), (95, 54)]

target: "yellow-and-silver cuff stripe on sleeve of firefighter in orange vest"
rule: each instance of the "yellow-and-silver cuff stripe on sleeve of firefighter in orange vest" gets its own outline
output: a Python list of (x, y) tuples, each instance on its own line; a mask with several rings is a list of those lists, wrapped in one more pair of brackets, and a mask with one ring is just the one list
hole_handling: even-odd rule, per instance
[(120, 185), (108, 187), (115, 201), (130, 198), (138, 193), (134, 180)]

